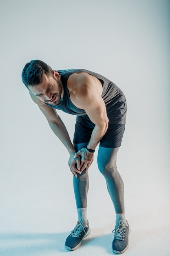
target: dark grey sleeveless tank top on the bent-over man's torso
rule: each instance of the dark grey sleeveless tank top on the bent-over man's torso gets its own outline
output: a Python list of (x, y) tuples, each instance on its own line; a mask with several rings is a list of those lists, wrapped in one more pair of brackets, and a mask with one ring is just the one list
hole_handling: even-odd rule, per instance
[(73, 73), (86, 72), (92, 76), (95, 76), (102, 83), (103, 93), (102, 98), (106, 105), (107, 115), (109, 119), (109, 124), (125, 124), (126, 122), (126, 98), (123, 92), (115, 85), (113, 82), (108, 80), (106, 77), (91, 72), (84, 69), (72, 69), (72, 70), (57, 70), (61, 75), (61, 81), (64, 87), (64, 96), (62, 102), (56, 106), (52, 106), (48, 103), (46, 105), (51, 108), (62, 110), (68, 114), (77, 115), (77, 120), (79, 116), (87, 117), (84, 109), (77, 108), (70, 99), (70, 94), (67, 88), (68, 77)]

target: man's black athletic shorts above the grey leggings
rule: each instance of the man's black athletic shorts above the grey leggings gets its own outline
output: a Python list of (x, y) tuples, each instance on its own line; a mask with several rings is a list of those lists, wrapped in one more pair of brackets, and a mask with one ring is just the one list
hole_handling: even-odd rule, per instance
[[(88, 117), (77, 116), (75, 124), (74, 144), (88, 142), (95, 124)], [(125, 124), (109, 124), (108, 130), (100, 141), (104, 148), (118, 148), (121, 146)]]

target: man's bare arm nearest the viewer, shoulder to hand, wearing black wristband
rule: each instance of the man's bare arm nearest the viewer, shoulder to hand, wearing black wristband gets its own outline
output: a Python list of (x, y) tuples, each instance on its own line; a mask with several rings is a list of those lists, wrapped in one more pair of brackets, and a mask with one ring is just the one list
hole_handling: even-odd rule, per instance
[[(88, 117), (95, 124), (91, 139), (88, 142), (88, 148), (95, 150), (97, 144), (102, 139), (108, 128), (108, 117), (106, 105), (102, 99), (102, 85), (98, 79), (88, 74), (75, 74), (70, 81), (70, 97), (71, 101), (77, 108), (86, 111)], [(69, 87), (69, 84), (68, 84)], [(75, 157), (81, 155), (81, 171), (90, 167), (93, 162), (93, 153), (89, 153), (86, 148), (79, 150)]]

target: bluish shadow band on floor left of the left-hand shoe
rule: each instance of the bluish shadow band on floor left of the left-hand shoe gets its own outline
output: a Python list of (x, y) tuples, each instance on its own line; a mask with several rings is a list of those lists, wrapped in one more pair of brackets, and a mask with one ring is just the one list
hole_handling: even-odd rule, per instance
[(45, 252), (66, 252), (64, 242), (68, 233), (58, 234), (0, 234), (0, 256), (26, 256)]

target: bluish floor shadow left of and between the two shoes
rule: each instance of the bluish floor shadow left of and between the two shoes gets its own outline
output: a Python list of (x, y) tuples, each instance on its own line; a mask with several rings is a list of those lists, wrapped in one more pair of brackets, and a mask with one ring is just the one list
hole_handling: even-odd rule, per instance
[[(69, 233), (57, 234), (0, 234), (0, 256), (27, 256), (27, 255), (48, 255), (57, 252), (70, 252), (64, 247), (66, 237)], [(112, 234), (99, 235), (93, 234), (82, 241), (81, 247), (102, 247), (106, 253), (112, 254)], [(83, 249), (83, 248), (82, 248)], [(85, 249), (85, 248), (84, 248)], [(77, 251), (76, 250), (76, 251)]]

